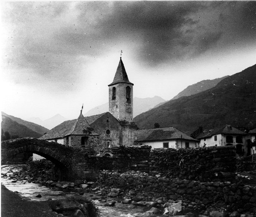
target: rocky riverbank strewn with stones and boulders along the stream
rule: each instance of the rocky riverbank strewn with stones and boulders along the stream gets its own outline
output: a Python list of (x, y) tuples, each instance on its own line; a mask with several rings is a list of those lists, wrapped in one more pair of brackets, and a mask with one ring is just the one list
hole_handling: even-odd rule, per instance
[[(32, 171), (23, 167), (23, 170), (10, 172), (13, 174), (2, 174), (2, 178), (27, 180), (62, 191), (74, 191), (78, 195), (89, 194), (91, 199), (105, 206), (121, 202), (129, 204), (127, 206), (148, 207), (145, 213), (134, 216), (256, 217), (253, 205), (256, 204), (256, 188), (242, 183), (169, 180), (159, 174), (149, 176), (135, 171), (122, 174), (103, 171), (95, 182), (58, 182), (51, 169)], [(226, 202), (232, 200), (240, 200), (243, 206), (236, 208), (239, 203), (227, 205)]]

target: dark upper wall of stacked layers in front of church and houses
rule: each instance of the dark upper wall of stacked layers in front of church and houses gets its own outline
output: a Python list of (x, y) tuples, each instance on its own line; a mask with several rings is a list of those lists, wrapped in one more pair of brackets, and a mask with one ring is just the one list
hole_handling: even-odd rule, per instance
[(113, 157), (91, 157), (89, 167), (98, 170), (135, 170), (150, 175), (200, 181), (233, 181), (236, 172), (234, 147), (153, 149), (148, 146), (113, 148)]

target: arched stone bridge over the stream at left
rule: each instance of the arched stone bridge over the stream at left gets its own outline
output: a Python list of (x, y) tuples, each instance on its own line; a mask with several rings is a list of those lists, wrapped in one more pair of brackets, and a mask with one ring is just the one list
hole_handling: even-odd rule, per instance
[(10, 139), (1, 142), (1, 162), (24, 152), (38, 154), (54, 163), (59, 170), (61, 180), (85, 178), (88, 155), (80, 149), (36, 138)]

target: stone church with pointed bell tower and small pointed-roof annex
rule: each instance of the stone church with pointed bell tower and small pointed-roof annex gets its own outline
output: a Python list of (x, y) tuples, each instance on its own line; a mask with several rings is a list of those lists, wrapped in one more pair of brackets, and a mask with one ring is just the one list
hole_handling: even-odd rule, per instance
[(137, 125), (133, 122), (133, 83), (120, 57), (113, 82), (108, 85), (109, 112), (64, 121), (39, 139), (86, 149), (97, 155), (111, 155), (111, 147), (133, 145)]

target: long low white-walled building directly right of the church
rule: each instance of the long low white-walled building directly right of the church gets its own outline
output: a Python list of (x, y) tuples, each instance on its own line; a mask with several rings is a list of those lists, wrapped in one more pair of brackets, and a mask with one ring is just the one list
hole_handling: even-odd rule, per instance
[(135, 144), (155, 148), (195, 148), (199, 141), (174, 127), (138, 129), (135, 132)]

